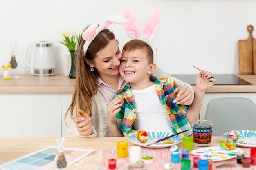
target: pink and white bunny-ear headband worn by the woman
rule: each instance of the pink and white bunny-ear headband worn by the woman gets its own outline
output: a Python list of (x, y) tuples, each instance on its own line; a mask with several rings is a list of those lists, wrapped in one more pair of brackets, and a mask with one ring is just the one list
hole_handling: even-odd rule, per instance
[(104, 18), (99, 26), (97, 23), (91, 24), (82, 34), (82, 38), (85, 40), (85, 44), (83, 45), (83, 57), (85, 57), (89, 45), (100, 31), (106, 29), (112, 23), (123, 25), (126, 22), (127, 19), (123, 15), (115, 14)]

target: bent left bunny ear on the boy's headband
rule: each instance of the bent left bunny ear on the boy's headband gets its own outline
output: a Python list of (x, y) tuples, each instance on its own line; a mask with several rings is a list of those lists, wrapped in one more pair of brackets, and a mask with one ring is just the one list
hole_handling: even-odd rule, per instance
[(124, 24), (124, 30), (126, 34), (134, 39), (140, 37), (140, 29), (137, 20), (130, 11), (124, 11), (123, 15), (128, 19), (128, 22)]

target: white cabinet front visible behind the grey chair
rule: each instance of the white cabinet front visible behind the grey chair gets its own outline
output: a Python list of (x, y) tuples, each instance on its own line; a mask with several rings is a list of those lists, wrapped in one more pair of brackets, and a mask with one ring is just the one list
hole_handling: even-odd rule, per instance
[(256, 93), (205, 93), (199, 119), (204, 119), (208, 102), (219, 97), (246, 97), (256, 103)]

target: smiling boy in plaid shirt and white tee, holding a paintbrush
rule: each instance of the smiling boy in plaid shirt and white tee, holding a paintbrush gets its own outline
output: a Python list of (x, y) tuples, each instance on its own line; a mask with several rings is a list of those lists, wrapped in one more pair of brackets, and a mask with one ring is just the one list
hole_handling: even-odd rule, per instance
[[(191, 106), (174, 103), (177, 84), (174, 79), (157, 79), (153, 51), (142, 40), (130, 40), (123, 47), (119, 71), (127, 84), (120, 88), (108, 105), (108, 126), (111, 136), (131, 136), (139, 130), (147, 132), (192, 134), (191, 122), (198, 118), (204, 93), (215, 79), (209, 71), (196, 77), (195, 98)], [(116, 124), (116, 125), (115, 125)]]

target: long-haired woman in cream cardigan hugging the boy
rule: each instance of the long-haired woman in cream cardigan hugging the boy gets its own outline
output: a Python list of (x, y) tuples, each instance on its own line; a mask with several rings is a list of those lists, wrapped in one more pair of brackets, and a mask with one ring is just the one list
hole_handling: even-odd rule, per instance
[[(121, 51), (115, 35), (106, 28), (107, 24), (105, 27), (104, 24), (105, 22), (99, 27), (95, 27), (95, 24), (90, 25), (79, 41), (74, 93), (65, 114), (66, 120), (70, 110), (71, 124), (67, 137), (110, 136), (107, 105), (115, 92), (124, 85), (124, 79), (119, 74)], [(93, 29), (96, 29), (95, 34)], [(165, 77), (167, 74), (157, 68), (153, 75)], [(177, 85), (177, 104), (191, 104), (194, 96), (193, 87), (180, 80), (177, 80)]]

